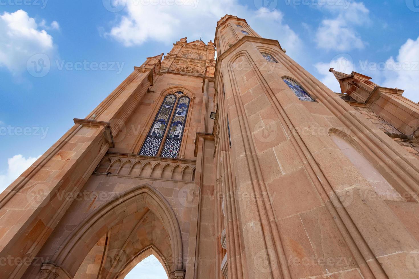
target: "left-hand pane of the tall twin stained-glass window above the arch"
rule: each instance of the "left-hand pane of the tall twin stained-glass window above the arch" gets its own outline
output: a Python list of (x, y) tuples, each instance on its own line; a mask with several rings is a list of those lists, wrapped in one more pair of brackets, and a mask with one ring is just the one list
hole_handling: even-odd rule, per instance
[(163, 104), (161, 105), (141, 148), (140, 155), (157, 156), (157, 152), (163, 140), (163, 135), (166, 131), (167, 123), (173, 111), (175, 101), (176, 97), (173, 94), (166, 96), (163, 100)]

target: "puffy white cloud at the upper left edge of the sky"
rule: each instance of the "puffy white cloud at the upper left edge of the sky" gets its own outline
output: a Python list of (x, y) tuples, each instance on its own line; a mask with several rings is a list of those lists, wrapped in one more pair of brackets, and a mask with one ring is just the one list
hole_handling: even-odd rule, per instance
[[(52, 54), (53, 38), (39, 27), (41, 24), (38, 25), (24, 10), (0, 15), (0, 66), (16, 74), (26, 68), (26, 62), (32, 55)], [(51, 28), (57, 27), (59, 25), (54, 21)]]

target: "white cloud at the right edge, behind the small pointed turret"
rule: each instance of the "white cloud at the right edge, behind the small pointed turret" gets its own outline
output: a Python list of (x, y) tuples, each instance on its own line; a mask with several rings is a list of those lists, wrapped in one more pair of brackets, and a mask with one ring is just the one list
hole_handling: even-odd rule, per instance
[(416, 40), (408, 39), (403, 44), (396, 59), (391, 56), (385, 62), (357, 61), (354, 64), (349, 54), (343, 54), (332, 59), (330, 63), (317, 63), (314, 65), (321, 82), (335, 92), (340, 92), (339, 82), (334, 75), (328, 72), (329, 68), (350, 74), (352, 71), (372, 77), (371, 81), (379, 86), (399, 88), (405, 90), (403, 96), (419, 101), (419, 37)]

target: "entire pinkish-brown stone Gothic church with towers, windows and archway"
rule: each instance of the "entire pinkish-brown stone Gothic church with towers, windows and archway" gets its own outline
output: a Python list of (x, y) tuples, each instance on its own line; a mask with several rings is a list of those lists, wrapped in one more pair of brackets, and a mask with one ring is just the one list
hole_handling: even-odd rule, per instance
[(147, 58), (1, 194), (1, 278), (418, 278), (419, 105), (331, 72), (231, 15)]

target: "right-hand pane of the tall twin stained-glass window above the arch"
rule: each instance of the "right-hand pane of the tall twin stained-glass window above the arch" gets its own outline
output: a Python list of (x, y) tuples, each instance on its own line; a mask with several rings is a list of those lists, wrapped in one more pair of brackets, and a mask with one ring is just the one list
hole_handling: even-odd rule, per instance
[(177, 158), (179, 155), (189, 102), (190, 99), (186, 96), (178, 100), (176, 112), (173, 115), (166, 142), (163, 146), (162, 157)]

